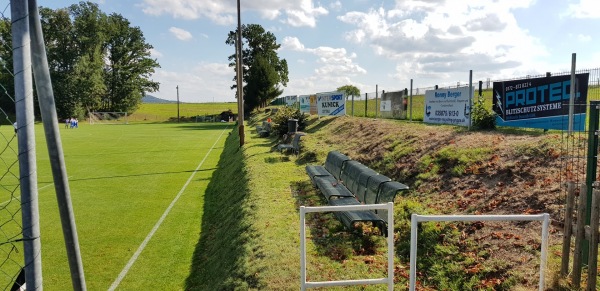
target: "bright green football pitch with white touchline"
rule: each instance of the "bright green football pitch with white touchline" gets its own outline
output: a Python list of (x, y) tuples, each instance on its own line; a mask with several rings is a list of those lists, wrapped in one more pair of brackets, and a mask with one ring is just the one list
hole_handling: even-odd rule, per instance
[[(61, 126), (88, 290), (185, 289), (201, 232), (204, 191), (233, 127)], [(46, 290), (71, 289), (42, 125), (35, 129), (43, 284)], [(13, 134), (4, 126), (0, 130)], [(16, 150), (16, 143), (12, 146)]]

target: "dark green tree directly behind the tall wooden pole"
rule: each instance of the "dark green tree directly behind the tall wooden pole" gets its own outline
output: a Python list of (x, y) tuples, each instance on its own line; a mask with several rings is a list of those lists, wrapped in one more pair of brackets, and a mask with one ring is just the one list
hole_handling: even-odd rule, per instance
[[(243, 88), (244, 110), (251, 111), (265, 106), (283, 93), (280, 86), (285, 87), (289, 82), (288, 66), (287, 61), (277, 55), (281, 45), (277, 44), (275, 35), (259, 24), (243, 25), (242, 38), (245, 41), (242, 52), (242, 78), (246, 83)], [(235, 46), (236, 39), (236, 31), (230, 31), (225, 43)], [(229, 61), (230, 67), (237, 67), (235, 53), (229, 56)], [(237, 75), (233, 81), (237, 81)], [(237, 85), (231, 87), (236, 88)]]

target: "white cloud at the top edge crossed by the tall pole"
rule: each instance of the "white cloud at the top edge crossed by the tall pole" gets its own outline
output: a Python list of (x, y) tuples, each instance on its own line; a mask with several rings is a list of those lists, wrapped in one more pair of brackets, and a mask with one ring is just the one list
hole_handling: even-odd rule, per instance
[[(138, 4), (148, 15), (171, 15), (186, 20), (206, 18), (219, 25), (231, 25), (237, 21), (237, 1), (235, 0), (143, 0)], [(250, 0), (241, 2), (244, 11), (256, 11), (262, 18), (279, 19), (295, 27), (315, 27), (317, 18), (327, 15), (323, 6), (313, 0)]]

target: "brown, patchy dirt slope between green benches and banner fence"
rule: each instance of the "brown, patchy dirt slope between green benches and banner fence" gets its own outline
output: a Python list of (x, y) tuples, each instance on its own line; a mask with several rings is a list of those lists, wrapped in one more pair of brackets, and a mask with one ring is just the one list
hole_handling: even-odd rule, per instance
[[(434, 214), (549, 213), (550, 243), (561, 244), (557, 227), (564, 215), (565, 183), (581, 181), (585, 169), (567, 158), (562, 133), (478, 132), (349, 117), (320, 122), (329, 124), (325, 131), (315, 131), (317, 146), (340, 150), (409, 185), (410, 196)], [(540, 228), (528, 228), (525, 223), (472, 223), (463, 225), (462, 232), (523, 272), (525, 289), (536, 289), (539, 255), (531, 249), (539, 249)]]

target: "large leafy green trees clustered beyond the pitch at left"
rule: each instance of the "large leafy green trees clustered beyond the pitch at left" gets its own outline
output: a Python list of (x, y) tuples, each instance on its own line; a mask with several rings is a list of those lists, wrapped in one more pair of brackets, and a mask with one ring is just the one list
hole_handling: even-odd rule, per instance
[[(160, 68), (151, 58), (153, 47), (122, 15), (107, 15), (92, 2), (39, 11), (59, 117), (132, 113), (146, 93), (158, 91), (159, 83), (151, 79)], [(14, 111), (12, 72), (11, 21), (1, 18), (0, 108), (9, 113)]]

